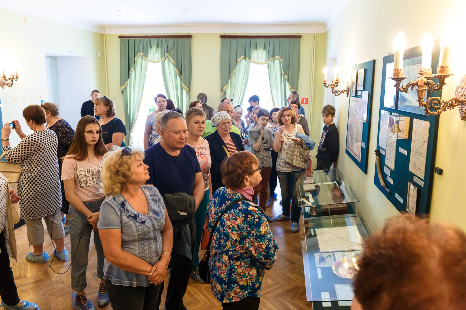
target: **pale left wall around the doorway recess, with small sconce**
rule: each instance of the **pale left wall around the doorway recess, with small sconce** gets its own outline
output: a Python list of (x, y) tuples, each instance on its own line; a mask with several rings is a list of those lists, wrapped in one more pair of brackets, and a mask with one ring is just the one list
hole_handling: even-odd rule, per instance
[[(24, 18), (27, 19), (26, 23)], [(20, 75), (20, 79), (14, 82), (12, 88), (0, 88), (4, 121), (19, 119), (24, 132), (31, 132), (24, 128), (27, 126), (21, 111), (28, 105), (40, 104), (39, 95), (43, 99), (48, 97), (46, 55), (89, 57), (92, 68), (89, 72), (91, 85), (97, 89), (103, 89), (105, 86), (103, 57), (97, 58), (97, 53), (103, 53), (102, 34), (3, 8), (0, 8), (0, 20), (6, 27), (1, 33), (0, 70), (17, 69)], [(31, 100), (31, 95), (34, 95), (34, 100)], [(19, 101), (14, 102), (14, 96), (18, 97)], [(22, 101), (22, 96), (26, 96), (27, 100)], [(70, 98), (67, 104), (79, 114), (82, 102), (86, 100), (89, 100), (89, 97)], [(19, 142), (16, 134), (12, 134), (11, 138), (12, 145)]]

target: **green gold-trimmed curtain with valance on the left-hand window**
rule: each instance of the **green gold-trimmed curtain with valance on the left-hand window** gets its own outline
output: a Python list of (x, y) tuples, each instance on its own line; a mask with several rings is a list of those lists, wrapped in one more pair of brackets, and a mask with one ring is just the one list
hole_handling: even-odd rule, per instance
[[(176, 105), (187, 106), (185, 101), (189, 100), (191, 39), (120, 39), (120, 91), (123, 94), (125, 126), (130, 132), (144, 90), (147, 61), (163, 62), (164, 84), (170, 89), (169, 98), (170, 95), (177, 98), (178, 102), (173, 100)], [(130, 145), (130, 135), (125, 137), (125, 141)]]

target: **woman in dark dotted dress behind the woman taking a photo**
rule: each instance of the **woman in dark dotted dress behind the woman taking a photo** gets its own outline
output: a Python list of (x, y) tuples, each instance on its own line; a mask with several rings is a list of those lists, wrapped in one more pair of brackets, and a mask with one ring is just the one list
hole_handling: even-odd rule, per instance
[[(58, 106), (53, 102), (44, 102), (41, 104), (41, 107), (45, 110), (45, 117), (47, 121), (47, 129), (53, 130), (58, 138), (58, 169), (60, 170), (60, 178), (62, 177), (62, 157), (66, 155), (73, 142), (75, 137), (75, 130), (69, 123), (59, 117), (60, 111)], [(63, 180), (60, 179), (60, 185), (62, 186), (62, 222), (65, 233), (68, 233), (68, 222), (66, 220), (66, 214), (69, 209), (69, 202), (66, 200), (65, 196), (65, 187), (63, 185)]]

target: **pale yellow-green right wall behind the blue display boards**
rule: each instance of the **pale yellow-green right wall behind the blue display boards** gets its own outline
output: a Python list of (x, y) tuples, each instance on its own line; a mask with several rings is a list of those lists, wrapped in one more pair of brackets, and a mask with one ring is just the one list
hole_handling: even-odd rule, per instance
[[(466, 42), (462, 37), (454, 37), (464, 28), (464, 12), (466, 12), (466, 2), (456, 0), (441, 3), (433, 0), (422, 2), (350, 0), (326, 33), (327, 55), (333, 56), (336, 53), (337, 63), (343, 70), (343, 76), (349, 76), (351, 66), (376, 59), (367, 174), (364, 174), (345, 154), (349, 100), (346, 96), (335, 99), (337, 111), (335, 123), (340, 133), (338, 167), (360, 198), (359, 211), (364, 213), (373, 229), (379, 229), (386, 218), (398, 214), (395, 207), (374, 185), (373, 150), (377, 147), (383, 58), (393, 51), (393, 40), (399, 31), (402, 31), (406, 37), (406, 48), (411, 48), (421, 44), (426, 31), (436, 37), (449, 28), (453, 36), (450, 72), (455, 75), (446, 80), (443, 99), (452, 98), (456, 86), (466, 73), (464, 61)], [(322, 79), (320, 73), (322, 67), (316, 67), (315, 72), (318, 72), (316, 79), (318, 77)], [(316, 121), (316, 118), (313, 121)], [(455, 108), (442, 113), (439, 124), (435, 165), (443, 168), (444, 172), (441, 176), (434, 174), (431, 219), (449, 221), (466, 230), (466, 191), (461, 185), (464, 183), (466, 172), (462, 164), (462, 158), (466, 154), (466, 122), (459, 119), (458, 108)]]

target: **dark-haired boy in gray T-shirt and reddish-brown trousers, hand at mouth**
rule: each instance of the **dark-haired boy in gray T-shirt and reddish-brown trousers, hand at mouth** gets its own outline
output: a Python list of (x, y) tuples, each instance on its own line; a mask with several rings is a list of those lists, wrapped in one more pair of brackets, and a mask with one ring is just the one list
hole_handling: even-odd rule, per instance
[[(261, 167), (260, 176), (262, 177), (260, 183), (254, 187), (254, 195), (251, 201), (255, 202), (259, 194), (259, 206), (264, 210), (264, 213), (267, 203), (268, 180), (270, 179), (270, 172), (272, 172), (272, 154), (270, 149), (274, 143), (272, 130), (267, 127), (267, 125), (270, 125), (268, 122), (269, 118), (270, 113), (266, 109), (260, 108), (257, 112), (256, 126), (250, 128), (247, 132), (251, 153), (259, 161), (259, 167)], [(267, 214), (266, 218), (269, 223), (274, 221)]]

